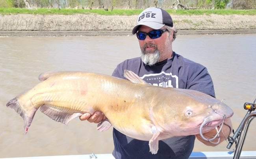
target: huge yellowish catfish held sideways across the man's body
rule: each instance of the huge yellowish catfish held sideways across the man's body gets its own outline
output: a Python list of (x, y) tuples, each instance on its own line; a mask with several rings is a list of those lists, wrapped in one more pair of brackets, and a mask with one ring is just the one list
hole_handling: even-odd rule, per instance
[(39, 75), (41, 83), (6, 106), (24, 119), (25, 134), (39, 108), (66, 125), (86, 112), (100, 111), (123, 134), (149, 141), (152, 154), (157, 153), (159, 140), (199, 134), (203, 121), (208, 121), (202, 129), (206, 133), (233, 115), (227, 105), (207, 94), (152, 86), (128, 70), (124, 76), (130, 81), (91, 72), (47, 72)]

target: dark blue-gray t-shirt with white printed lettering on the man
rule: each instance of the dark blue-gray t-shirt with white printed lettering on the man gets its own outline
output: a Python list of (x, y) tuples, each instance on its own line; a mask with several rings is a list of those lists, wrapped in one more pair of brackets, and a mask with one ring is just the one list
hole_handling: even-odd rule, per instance
[[(124, 69), (133, 71), (152, 85), (193, 89), (215, 97), (213, 82), (206, 67), (175, 52), (172, 58), (154, 66), (145, 65), (139, 57), (125, 60), (117, 65), (112, 76), (124, 78)], [(158, 153), (154, 155), (149, 152), (148, 141), (133, 139), (115, 128), (113, 140), (113, 156), (116, 159), (187, 159), (193, 150), (195, 136), (160, 140)]]

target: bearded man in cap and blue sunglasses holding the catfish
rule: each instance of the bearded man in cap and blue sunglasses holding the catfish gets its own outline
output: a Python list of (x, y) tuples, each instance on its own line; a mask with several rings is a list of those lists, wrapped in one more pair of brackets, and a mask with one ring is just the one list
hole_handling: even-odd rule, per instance
[[(207, 69), (172, 50), (177, 31), (169, 13), (156, 7), (145, 9), (137, 18), (137, 25), (132, 30), (132, 34), (135, 33), (141, 57), (123, 61), (117, 65), (112, 76), (124, 78), (124, 69), (132, 70), (152, 85), (193, 89), (215, 97), (213, 82)], [(101, 112), (95, 112), (92, 116), (84, 114), (80, 119), (99, 123), (106, 117)], [(217, 145), (218, 139), (220, 142), (227, 139), (232, 125), (230, 119), (225, 119), (224, 123), (220, 137), (211, 142), (202, 139), (200, 135), (172, 137), (159, 141), (158, 153), (154, 155), (149, 152), (148, 141), (125, 136), (114, 128), (113, 156), (117, 159), (187, 159), (193, 150), (195, 137), (209, 146)], [(216, 133), (214, 129), (204, 136), (211, 139)]]

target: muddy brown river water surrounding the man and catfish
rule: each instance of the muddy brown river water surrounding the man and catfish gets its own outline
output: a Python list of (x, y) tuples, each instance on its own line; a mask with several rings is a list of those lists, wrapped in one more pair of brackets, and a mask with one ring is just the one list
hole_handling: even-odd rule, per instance
[[(234, 110), (236, 130), (256, 98), (256, 34), (179, 35), (173, 50), (205, 65), (217, 99)], [(112, 128), (98, 132), (96, 124), (72, 120), (68, 126), (37, 111), (28, 134), (23, 120), (6, 103), (39, 83), (41, 72), (83, 70), (111, 75), (116, 65), (139, 56), (135, 36), (0, 37), (0, 158), (46, 155), (106, 154), (113, 150)], [(243, 150), (256, 150), (252, 121)], [(230, 151), (196, 141), (193, 151)]]

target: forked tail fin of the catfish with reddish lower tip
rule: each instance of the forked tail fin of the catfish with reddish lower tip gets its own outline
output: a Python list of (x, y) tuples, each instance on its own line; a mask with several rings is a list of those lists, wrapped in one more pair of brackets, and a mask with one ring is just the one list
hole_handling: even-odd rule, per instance
[(24, 107), (19, 104), (18, 102), (18, 97), (11, 99), (8, 101), (6, 104), (6, 107), (13, 108), (15, 112), (20, 114), (20, 116), (24, 120), (24, 129), (25, 129), (25, 134), (28, 132), (28, 127), (31, 125), (31, 122), (35, 116), (35, 112), (37, 111), (37, 108), (35, 107), (30, 107), (30, 109), (24, 110)]

